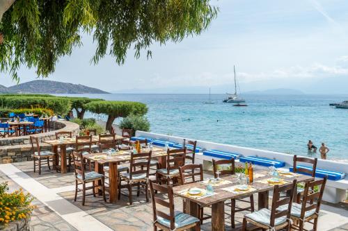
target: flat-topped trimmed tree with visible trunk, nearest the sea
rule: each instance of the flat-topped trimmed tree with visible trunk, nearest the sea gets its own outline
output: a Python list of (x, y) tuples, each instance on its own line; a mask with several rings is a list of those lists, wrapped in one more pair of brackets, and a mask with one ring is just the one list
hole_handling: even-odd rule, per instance
[(144, 115), (148, 112), (145, 104), (128, 101), (93, 101), (86, 104), (86, 109), (97, 114), (106, 114), (106, 130), (109, 131), (113, 121), (118, 117), (127, 117), (130, 114)]

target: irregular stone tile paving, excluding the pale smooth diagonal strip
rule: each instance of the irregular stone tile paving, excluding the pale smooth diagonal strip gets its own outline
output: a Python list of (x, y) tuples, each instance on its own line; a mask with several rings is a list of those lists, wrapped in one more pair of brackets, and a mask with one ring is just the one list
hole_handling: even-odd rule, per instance
[[(33, 173), (33, 163), (32, 162), (20, 162), (13, 164), (17, 166), (18, 169), (24, 171), (31, 178), (45, 185), (48, 189), (63, 189), (63, 187), (74, 185), (73, 173), (61, 174), (55, 171), (42, 171), (42, 175), (39, 176), (38, 173)], [(2, 179), (4, 178), (4, 179)], [(1, 176), (1, 180), (6, 180), (6, 176)], [(7, 180), (10, 180), (7, 178)], [(16, 189), (19, 187), (16, 184), (10, 183), (11, 189)], [(94, 198), (93, 196), (86, 197), (86, 205), (81, 205), (81, 196), (78, 196), (77, 202), (74, 202), (74, 191), (71, 187), (68, 190), (63, 190), (58, 192), (58, 196), (61, 196), (69, 203), (78, 207), (82, 211), (89, 214), (97, 222), (100, 222), (111, 230), (152, 230), (152, 204), (146, 203), (145, 196), (136, 195), (133, 196), (133, 205), (129, 205), (128, 198), (126, 196), (121, 196), (121, 200), (117, 204), (104, 203), (100, 196)], [(257, 202), (257, 197), (255, 198)], [(40, 205), (38, 209), (35, 209), (32, 219), (33, 230), (75, 230), (69, 223), (65, 222), (61, 216), (53, 212), (49, 207), (40, 203), (39, 200), (35, 200), (35, 203)], [(246, 206), (246, 204), (239, 203), (241, 207)], [(257, 204), (255, 205), (257, 207)], [(175, 209), (182, 209), (182, 199), (175, 198)], [(319, 219), (318, 230), (348, 230), (348, 211), (346, 205), (330, 205), (324, 204), (322, 206), (321, 219)], [(205, 209), (207, 214), (210, 213), (210, 209)], [(230, 228), (230, 208), (226, 206), (226, 225), (227, 230), (232, 230)], [(236, 229), (240, 230), (242, 225), (242, 217), (247, 212), (239, 212), (236, 214)], [(339, 219), (342, 220), (341, 225), (328, 225), (325, 224), (326, 221), (334, 220), (336, 215), (340, 215)], [(345, 221), (347, 219), (347, 221)], [(323, 222), (324, 221), (324, 222)], [(322, 223), (321, 223), (322, 222)], [(334, 221), (331, 221), (335, 223)], [(308, 227), (309, 228), (309, 227)], [(209, 220), (205, 221), (202, 225), (201, 230), (211, 230), (209, 225)]]

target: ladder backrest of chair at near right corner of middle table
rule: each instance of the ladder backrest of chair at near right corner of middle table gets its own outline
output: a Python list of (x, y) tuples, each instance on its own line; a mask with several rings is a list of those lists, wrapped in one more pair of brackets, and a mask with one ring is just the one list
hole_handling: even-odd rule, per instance
[(132, 180), (135, 174), (146, 174), (146, 178), (149, 177), (150, 162), (151, 162), (152, 151), (149, 153), (138, 153), (131, 154), (129, 179)]

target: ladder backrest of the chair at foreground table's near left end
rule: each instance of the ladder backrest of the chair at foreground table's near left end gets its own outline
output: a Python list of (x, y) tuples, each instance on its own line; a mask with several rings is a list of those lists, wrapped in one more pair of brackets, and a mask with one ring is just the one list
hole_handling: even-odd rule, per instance
[[(163, 219), (171, 221), (170, 228), (171, 230), (175, 230), (173, 187), (164, 187), (150, 181), (150, 191), (152, 197), (153, 221), (157, 221), (157, 217), (160, 216)], [(155, 194), (155, 191), (158, 191), (160, 194)], [(163, 199), (165, 196), (168, 196), (168, 201)], [(160, 205), (159, 207), (162, 209), (157, 209), (157, 205)], [(166, 211), (164, 212), (164, 210)]]

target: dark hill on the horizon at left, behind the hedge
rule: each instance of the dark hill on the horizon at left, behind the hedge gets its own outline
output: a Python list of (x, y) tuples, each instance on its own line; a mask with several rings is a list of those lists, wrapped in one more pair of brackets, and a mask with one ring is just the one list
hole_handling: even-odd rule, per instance
[[(7, 90), (7, 92), (3, 92)], [(52, 80), (33, 80), (12, 87), (0, 85), (0, 93), (42, 93), (42, 94), (109, 94), (100, 89), (81, 84), (62, 83)]]

